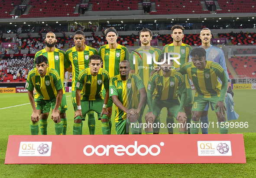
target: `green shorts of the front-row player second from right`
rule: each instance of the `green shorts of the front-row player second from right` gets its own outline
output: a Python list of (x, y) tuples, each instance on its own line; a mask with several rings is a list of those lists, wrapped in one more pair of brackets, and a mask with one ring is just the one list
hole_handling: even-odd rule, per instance
[[(178, 115), (180, 102), (178, 101), (178, 99), (176, 100), (173, 99), (169, 101), (153, 100), (152, 107), (153, 107), (153, 114), (156, 117), (161, 113), (162, 108), (167, 108), (168, 111), (176, 118)], [(147, 112), (149, 112), (149, 110)]]

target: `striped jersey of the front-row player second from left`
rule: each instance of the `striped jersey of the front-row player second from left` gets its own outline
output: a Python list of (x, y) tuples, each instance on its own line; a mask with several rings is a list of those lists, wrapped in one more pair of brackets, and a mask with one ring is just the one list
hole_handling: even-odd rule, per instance
[(81, 100), (104, 99), (101, 88), (109, 89), (109, 75), (107, 70), (100, 68), (97, 76), (91, 74), (91, 68), (81, 70), (76, 80), (76, 89), (81, 90)]

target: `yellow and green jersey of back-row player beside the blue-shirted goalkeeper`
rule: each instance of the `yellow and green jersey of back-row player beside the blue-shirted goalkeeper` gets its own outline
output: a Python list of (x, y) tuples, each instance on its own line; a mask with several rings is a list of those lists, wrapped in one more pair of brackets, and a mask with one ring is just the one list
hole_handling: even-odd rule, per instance
[[(173, 43), (169, 45), (165, 45), (163, 48), (163, 53), (178, 53), (181, 55), (180, 59), (178, 59), (179, 64), (177, 64), (175, 61), (173, 61), (173, 66), (175, 67), (176, 70), (179, 70), (180, 67), (188, 62), (189, 58), (189, 53), (192, 50), (191, 46), (182, 43), (180, 46), (174, 46)], [(178, 55), (172, 55), (173, 57), (178, 57)], [(191, 84), (189, 81), (188, 76), (184, 76), (186, 80), (186, 86), (188, 89), (191, 88)]]

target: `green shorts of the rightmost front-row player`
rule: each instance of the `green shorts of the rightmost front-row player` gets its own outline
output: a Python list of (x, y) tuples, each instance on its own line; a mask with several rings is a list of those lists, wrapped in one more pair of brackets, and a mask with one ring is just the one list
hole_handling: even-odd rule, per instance
[(219, 107), (215, 109), (219, 99), (220, 97), (204, 98), (204, 96), (201, 96), (201, 95), (198, 95), (197, 97), (195, 96), (192, 111), (204, 111), (204, 108), (206, 107), (207, 103), (211, 102), (212, 107), (214, 108), (214, 111), (219, 112)]

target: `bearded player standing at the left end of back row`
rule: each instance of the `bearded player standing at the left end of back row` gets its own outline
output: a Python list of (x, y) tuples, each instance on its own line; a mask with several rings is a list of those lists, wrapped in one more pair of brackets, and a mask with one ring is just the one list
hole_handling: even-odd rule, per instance
[[(45, 44), (46, 47), (41, 51), (38, 51), (35, 55), (36, 57), (43, 55), (48, 58), (48, 64), (50, 68), (57, 70), (58, 75), (62, 80), (62, 89), (63, 89), (63, 97), (61, 103), (61, 111), (60, 111), (60, 118), (63, 124), (63, 135), (67, 133), (67, 117), (66, 117), (66, 110), (68, 110), (67, 102), (66, 102), (66, 95), (65, 95), (65, 87), (63, 85), (64, 82), (64, 73), (65, 69), (71, 72), (71, 67), (66, 60), (66, 55), (64, 51), (61, 51), (55, 48), (55, 44), (57, 42), (56, 35), (53, 32), (48, 32), (45, 36)], [(36, 64), (34, 65), (36, 67)], [(46, 104), (43, 108), (41, 118), (40, 118), (40, 130), (42, 135), (47, 135), (47, 124), (48, 124), (48, 116), (49, 111), (51, 109), (50, 104)]]

